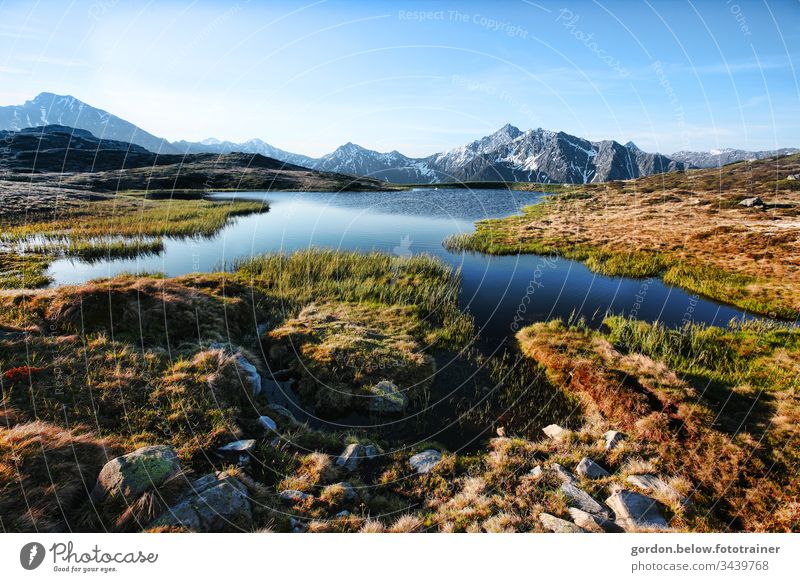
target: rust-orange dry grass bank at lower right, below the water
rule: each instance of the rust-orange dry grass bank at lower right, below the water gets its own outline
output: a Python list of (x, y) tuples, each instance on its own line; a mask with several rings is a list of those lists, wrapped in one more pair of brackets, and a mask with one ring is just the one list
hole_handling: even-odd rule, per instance
[[(761, 410), (777, 397), (777, 416), (796, 418), (791, 383), (762, 392), (765, 404), (747, 400), (740, 405), (734, 395), (715, 394), (721, 388), (714, 382), (701, 377), (699, 390), (663, 361), (618, 351), (601, 332), (580, 325), (536, 324), (520, 331), (518, 340), (555, 382), (581, 396), (588, 416), (602, 419), (594, 428), (597, 436), (607, 428), (629, 435), (631, 441), (608, 456), (608, 465), (618, 464), (623, 476), (668, 477), (672, 487), (653, 495), (672, 509), (677, 527), (792, 531), (800, 526), (797, 458), (791, 452), (800, 430), (796, 423), (765, 422), (770, 413)], [(748, 351), (747, 342), (739, 343)], [(721, 360), (711, 365), (724, 367)], [(580, 450), (578, 443), (568, 446)], [(683, 497), (691, 497), (691, 511)]]

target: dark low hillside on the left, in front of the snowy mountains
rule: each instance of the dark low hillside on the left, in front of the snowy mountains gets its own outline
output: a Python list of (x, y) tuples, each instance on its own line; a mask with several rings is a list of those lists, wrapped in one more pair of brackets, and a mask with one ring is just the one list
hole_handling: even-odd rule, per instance
[(60, 125), (0, 132), (0, 173), (20, 188), (117, 190), (379, 190), (368, 178), (309, 170), (260, 154), (155, 154)]

